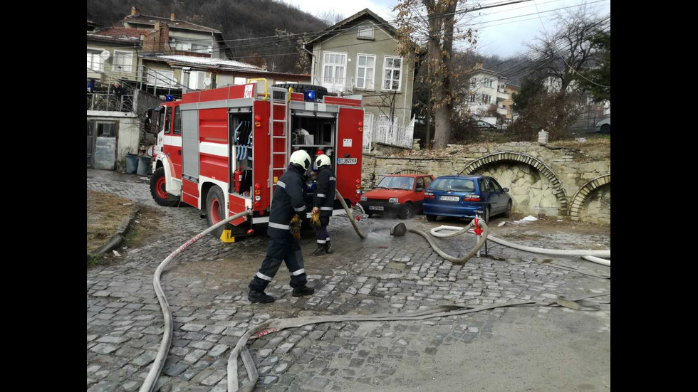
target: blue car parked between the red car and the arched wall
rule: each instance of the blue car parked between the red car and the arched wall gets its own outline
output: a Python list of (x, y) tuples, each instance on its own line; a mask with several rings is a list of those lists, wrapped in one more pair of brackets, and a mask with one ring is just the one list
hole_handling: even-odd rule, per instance
[(509, 189), (488, 176), (440, 176), (424, 191), (424, 215), (433, 222), (438, 216), (475, 218), (484, 211), (485, 223), (491, 216), (511, 216)]

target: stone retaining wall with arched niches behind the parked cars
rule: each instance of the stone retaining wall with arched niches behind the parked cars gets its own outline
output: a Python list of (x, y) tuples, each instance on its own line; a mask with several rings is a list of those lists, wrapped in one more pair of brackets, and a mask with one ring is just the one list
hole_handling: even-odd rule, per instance
[(363, 155), (363, 188), (385, 174), (416, 170), (434, 176), (486, 175), (509, 188), (514, 211), (610, 223), (610, 157), (574, 149), (512, 142), (446, 150), (438, 157)]

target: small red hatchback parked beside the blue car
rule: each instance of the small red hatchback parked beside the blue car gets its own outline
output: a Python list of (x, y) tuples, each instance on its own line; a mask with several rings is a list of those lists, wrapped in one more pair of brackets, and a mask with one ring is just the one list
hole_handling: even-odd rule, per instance
[(383, 177), (373, 191), (361, 195), (359, 202), (368, 216), (374, 213), (398, 213), (407, 219), (415, 211), (422, 211), (424, 189), (434, 181), (429, 174), (389, 174)]

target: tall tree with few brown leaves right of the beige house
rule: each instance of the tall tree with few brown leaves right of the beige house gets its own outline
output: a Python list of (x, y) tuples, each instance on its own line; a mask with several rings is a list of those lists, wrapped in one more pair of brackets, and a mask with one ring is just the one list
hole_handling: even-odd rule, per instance
[(459, 0), (402, 0), (397, 11), (400, 45), (398, 53), (425, 52), (427, 63), (427, 140), (434, 111), (434, 148), (446, 147), (451, 137), (453, 108), (459, 100), (454, 88), (458, 72), (454, 68), (453, 43), (466, 40), (474, 45), (474, 31), (464, 28), (464, 12), (457, 12)]

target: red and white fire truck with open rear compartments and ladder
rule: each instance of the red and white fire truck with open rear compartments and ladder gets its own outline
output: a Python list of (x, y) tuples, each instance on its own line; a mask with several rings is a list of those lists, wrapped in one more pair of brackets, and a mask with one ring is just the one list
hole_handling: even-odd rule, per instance
[[(157, 127), (152, 197), (161, 206), (182, 201), (206, 211), (209, 226), (252, 211), (227, 228), (233, 235), (246, 235), (253, 224), (269, 222), (276, 181), (291, 153), (304, 149), (311, 157), (330, 157), (337, 190), (355, 205), (361, 192), (363, 100), (316, 99), (315, 94), (256, 79), (162, 103), (152, 116)], [(312, 196), (309, 183), (306, 211), (311, 211)], [(343, 213), (335, 200), (334, 214)], [(222, 227), (214, 235), (225, 240), (231, 234)]]

